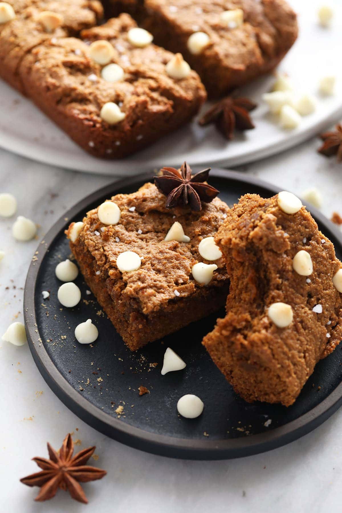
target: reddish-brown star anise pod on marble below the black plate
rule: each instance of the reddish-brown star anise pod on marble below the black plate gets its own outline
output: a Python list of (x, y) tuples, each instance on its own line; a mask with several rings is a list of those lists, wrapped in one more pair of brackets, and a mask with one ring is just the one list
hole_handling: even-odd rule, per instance
[(106, 476), (106, 470), (85, 465), (96, 447), (88, 447), (73, 457), (74, 443), (71, 435), (63, 441), (59, 453), (48, 443), (50, 459), (32, 458), (43, 470), (21, 479), (28, 486), (41, 486), (35, 501), (47, 501), (56, 495), (58, 488), (68, 490), (76, 501), (88, 503), (85, 492), (79, 483), (95, 481)]

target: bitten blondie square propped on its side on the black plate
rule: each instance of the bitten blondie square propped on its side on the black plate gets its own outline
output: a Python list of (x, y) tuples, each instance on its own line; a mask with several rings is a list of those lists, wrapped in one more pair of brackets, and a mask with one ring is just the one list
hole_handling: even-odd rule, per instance
[(203, 340), (246, 401), (285, 406), (342, 339), (342, 264), (288, 194), (246, 194), (228, 212), (215, 235), (231, 280), (227, 315)]

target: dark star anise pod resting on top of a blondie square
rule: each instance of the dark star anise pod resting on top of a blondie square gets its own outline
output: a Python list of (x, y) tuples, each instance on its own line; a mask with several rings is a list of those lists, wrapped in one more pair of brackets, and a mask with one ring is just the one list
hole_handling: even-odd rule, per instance
[(205, 184), (210, 167), (191, 175), (191, 167), (184, 162), (180, 170), (174, 167), (160, 169), (162, 176), (155, 176), (154, 183), (159, 192), (167, 195), (166, 208), (190, 205), (192, 210), (202, 210), (201, 201), (210, 203), (219, 191)]

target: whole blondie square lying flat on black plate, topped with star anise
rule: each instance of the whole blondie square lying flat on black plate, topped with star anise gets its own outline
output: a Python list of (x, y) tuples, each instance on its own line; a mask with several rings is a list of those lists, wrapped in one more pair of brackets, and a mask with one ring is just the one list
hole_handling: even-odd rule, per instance
[[(108, 203), (119, 212), (116, 224), (99, 220), (101, 205), (87, 213), (83, 224), (71, 223), (67, 236), (85, 281), (132, 351), (225, 304), (229, 279), (222, 257), (215, 260), (217, 269), (207, 285), (192, 275), (196, 263), (213, 263), (200, 255), (198, 245), (223, 223), (229, 210), (223, 201), (215, 198), (200, 211), (167, 209), (165, 195), (147, 183)], [(173, 236), (165, 240), (174, 223), (182, 225), (181, 239), (187, 242)], [(123, 270), (132, 258), (127, 252), (138, 260), (135, 270)]]

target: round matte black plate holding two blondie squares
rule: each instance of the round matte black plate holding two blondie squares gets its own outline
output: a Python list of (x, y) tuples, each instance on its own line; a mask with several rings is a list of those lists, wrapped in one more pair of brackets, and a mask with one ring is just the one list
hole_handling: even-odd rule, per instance
[[(166, 337), (163, 343), (154, 342), (131, 353), (93, 295), (87, 295), (81, 274), (75, 283), (81, 288), (82, 301), (73, 309), (61, 309), (57, 301), (60, 283), (54, 270), (70, 254), (64, 229), (70, 221), (82, 220), (104, 199), (118, 192), (133, 192), (151, 176), (139, 175), (91, 194), (66, 212), (39, 244), (24, 298), (28, 341), (39, 371), (59, 399), (85, 422), (115, 440), (159, 455), (237, 458), (305, 435), (342, 403), (339, 347), (318, 363), (293, 406), (248, 404), (234, 393), (201, 345), (203, 336), (224, 311)], [(268, 197), (278, 192), (250, 176), (226, 170), (212, 170), (210, 183), (229, 205), (247, 192)], [(339, 230), (314, 209), (313, 215), (342, 259)], [(50, 290), (49, 300), (43, 301), (43, 290)], [(92, 347), (78, 344), (74, 338), (75, 326), (89, 318), (99, 331)], [(184, 359), (187, 367), (162, 376), (160, 370), (168, 346)], [(157, 365), (151, 365), (154, 363)], [(139, 397), (140, 385), (150, 393)], [(186, 393), (195, 393), (205, 404), (197, 419), (177, 415), (177, 400)], [(115, 413), (119, 405), (124, 407), (120, 417)]]

